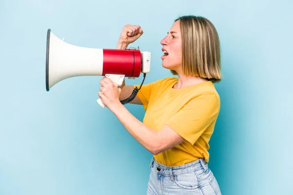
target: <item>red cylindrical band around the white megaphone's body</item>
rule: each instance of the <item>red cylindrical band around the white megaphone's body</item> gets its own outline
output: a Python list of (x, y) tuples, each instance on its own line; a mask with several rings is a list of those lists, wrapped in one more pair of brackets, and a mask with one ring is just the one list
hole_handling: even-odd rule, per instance
[(141, 53), (139, 50), (103, 49), (103, 76), (105, 74), (139, 77)]

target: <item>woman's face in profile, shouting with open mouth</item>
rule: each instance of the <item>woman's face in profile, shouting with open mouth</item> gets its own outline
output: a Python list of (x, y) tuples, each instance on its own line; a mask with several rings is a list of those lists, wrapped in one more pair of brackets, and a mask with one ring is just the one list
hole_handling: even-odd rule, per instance
[(161, 57), (164, 68), (174, 70), (178, 73), (182, 60), (182, 41), (180, 31), (180, 21), (173, 23), (168, 35), (161, 40), (164, 55)]

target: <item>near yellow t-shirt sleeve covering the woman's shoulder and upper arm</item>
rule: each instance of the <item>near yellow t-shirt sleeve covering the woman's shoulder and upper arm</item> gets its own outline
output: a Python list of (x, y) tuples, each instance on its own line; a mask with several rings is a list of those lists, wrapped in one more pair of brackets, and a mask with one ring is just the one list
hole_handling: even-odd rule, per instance
[(166, 125), (192, 145), (218, 117), (219, 100), (212, 93), (200, 94), (183, 106)]

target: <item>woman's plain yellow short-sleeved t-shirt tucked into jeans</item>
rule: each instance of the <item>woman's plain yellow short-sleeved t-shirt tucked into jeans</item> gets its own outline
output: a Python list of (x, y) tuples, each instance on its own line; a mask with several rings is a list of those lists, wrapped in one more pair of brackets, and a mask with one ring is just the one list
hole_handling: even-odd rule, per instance
[(209, 139), (220, 111), (220, 97), (211, 81), (173, 89), (177, 81), (174, 77), (160, 79), (143, 85), (137, 94), (146, 110), (144, 124), (156, 131), (167, 125), (185, 139), (154, 158), (166, 166), (199, 158), (209, 162)]

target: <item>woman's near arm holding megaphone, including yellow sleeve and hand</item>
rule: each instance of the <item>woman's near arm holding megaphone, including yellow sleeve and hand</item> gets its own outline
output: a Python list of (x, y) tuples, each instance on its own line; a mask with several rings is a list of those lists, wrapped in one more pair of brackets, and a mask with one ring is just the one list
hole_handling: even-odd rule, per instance
[[(171, 117), (160, 131), (149, 128), (133, 115), (119, 101), (120, 88), (110, 79), (103, 78), (99, 97), (125, 126), (126, 130), (148, 151), (156, 155), (183, 141), (193, 145), (207, 130), (212, 134), (220, 110), (219, 97), (214, 92), (198, 94)], [(196, 108), (196, 109), (195, 109)], [(178, 123), (180, 121), (180, 123)]]

